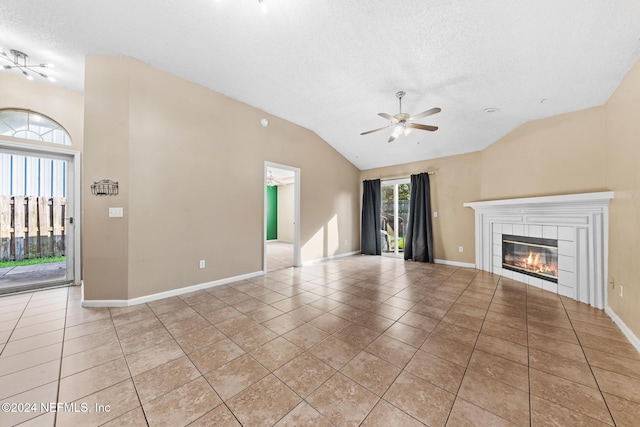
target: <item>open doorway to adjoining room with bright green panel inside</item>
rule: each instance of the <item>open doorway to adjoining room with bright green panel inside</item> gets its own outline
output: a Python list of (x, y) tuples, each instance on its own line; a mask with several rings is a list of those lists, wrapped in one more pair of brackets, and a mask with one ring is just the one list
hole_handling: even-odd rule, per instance
[(265, 162), (265, 272), (298, 267), (300, 262), (300, 169)]

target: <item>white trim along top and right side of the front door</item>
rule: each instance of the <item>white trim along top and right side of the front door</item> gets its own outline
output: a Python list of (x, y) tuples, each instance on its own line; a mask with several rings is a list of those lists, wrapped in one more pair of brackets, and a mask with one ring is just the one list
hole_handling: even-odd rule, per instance
[[(66, 146), (50, 147), (45, 145), (29, 144), (28, 142), (14, 142), (0, 138), (0, 151), (8, 154), (17, 154), (23, 156), (47, 156), (54, 159), (61, 159), (70, 162), (67, 169), (69, 174), (69, 194), (71, 198), (71, 216), (73, 217), (73, 239), (69, 239), (69, 249), (73, 254), (67, 257), (67, 268), (71, 268), (73, 272), (73, 284), (79, 285), (82, 278), (82, 257), (80, 256), (80, 231), (81, 227), (81, 176), (80, 176), (80, 160), (81, 153), (77, 150), (64, 148)], [(69, 224), (66, 224), (69, 226)], [(70, 259), (71, 258), (71, 259)], [(71, 263), (71, 265), (69, 265)]]

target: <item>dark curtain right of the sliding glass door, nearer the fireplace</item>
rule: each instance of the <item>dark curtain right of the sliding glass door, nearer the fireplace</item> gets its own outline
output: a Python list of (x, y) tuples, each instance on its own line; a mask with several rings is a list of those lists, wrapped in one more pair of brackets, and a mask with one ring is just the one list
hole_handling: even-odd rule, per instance
[(411, 175), (411, 199), (404, 243), (404, 259), (433, 262), (429, 174)]

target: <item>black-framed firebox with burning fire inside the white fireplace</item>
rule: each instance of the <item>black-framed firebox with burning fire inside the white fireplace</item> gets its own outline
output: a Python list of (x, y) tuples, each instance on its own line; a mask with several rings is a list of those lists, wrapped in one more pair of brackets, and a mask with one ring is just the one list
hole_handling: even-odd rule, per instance
[(503, 234), (502, 267), (558, 283), (558, 241)]

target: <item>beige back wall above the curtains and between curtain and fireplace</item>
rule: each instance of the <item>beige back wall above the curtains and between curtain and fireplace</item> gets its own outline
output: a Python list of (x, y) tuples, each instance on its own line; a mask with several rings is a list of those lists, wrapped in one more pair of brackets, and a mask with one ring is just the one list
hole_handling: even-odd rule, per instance
[[(480, 153), (370, 169), (362, 171), (360, 177), (384, 180), (427, 171), (435, 172), (429, 176), (431, 210), (438, 212), (438, 217), (433, 218), (435, 258), (474, 264), (474, 213), (462, 204), (480, 197)], [(458, 251), (459, 246), (464, 252)]]

